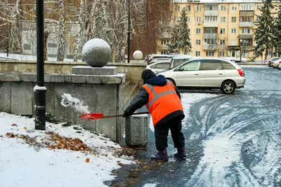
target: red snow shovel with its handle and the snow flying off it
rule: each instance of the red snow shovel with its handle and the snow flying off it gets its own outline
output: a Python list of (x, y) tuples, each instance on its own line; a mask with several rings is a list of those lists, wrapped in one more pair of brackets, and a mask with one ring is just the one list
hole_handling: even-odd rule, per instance
[[(80, 118), (84, 118), (87, 120), (98, 120), (100, 118), (113, 118), (113, 117), (120, 117), (123, 116), (122, 114), (119, 115), (112, 115), (112, 116), (103, 116), (104, 113), (91, 113), (89, 111), (89, 106), (85, 106), (83, 102), (81, 102), (79, 99), (72, 97), (70, 94), (63, 94), (63, 99), (60, 102), (61, 105), (68, 107), (71, 106), (75, 109), (75, 111), (79, 111), (80, 113), (84, 113), (79, 115)], [(138, 114), (148, 114), (149, 112), (139, 112), (139, 113), (133, 113), (133, 115)]]

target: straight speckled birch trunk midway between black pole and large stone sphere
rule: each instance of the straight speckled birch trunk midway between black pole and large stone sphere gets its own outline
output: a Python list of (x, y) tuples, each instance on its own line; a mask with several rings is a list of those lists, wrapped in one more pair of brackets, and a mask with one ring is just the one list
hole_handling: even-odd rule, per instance
[(57, 61), (63, 61), (65, 58), (65, 1), (59, 0), (59, 42), (58, 42), (58, 56)]

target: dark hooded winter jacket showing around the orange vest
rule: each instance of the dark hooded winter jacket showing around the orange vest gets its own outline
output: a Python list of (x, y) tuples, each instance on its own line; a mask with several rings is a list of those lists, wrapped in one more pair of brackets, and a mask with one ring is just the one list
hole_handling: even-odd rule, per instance
[[(148, 83), (150, 85), (164, 86), (166, 85), (167, 81), (164, 76), (159, 75), (159, 76), (153, 76), (152, 78), (149, 79), (145, 79), (144, 83)], [(181, 93), (178, 91), (178, 88), (176, 88), (176, 94), (181, 99)], [(138, 95), (136, 95), (136, 97), (134, 97), (133, 100), (131, 101), (131, 105), (126, 108), (125, 113), (127, 113), (128, 116), (131, 116), (137, 109), (141, 109), (142, 106), (147, 104), (148, 99), (149, 99), (148, 91), (142, 87), (138, 92)], [(183, 114), (182, 110), (174, 111), (173, 113), (170, 113), (164, 118), (162, 118), (162, 120), (159, 120), (159, 122), (155, 125), (160, 125), (162, 123), (165, 123), (166, 121), (171, 120), (172, 118), (183, 119), (184, 117), (185, 115)]]

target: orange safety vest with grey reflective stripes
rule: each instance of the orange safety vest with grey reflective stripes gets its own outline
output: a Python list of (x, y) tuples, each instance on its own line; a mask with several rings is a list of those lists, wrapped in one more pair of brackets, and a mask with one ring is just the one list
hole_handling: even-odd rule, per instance
[(145, 84), (143, 88), (148, 91), (149, 99), (145, 104), (152, 116), (153, 126), (165, 116), (178, 110), (183, 111), (181, 99), (176, 94), (176, 88), (171, 81), (164, 86)]

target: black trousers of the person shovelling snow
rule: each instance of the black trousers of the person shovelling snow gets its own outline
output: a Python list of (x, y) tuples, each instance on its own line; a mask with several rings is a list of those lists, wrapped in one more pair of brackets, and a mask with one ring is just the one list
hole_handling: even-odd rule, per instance
[(157, 150), (163, 151), (168, 147), (168, 135), (171, 130), (171, 138), (174, 141), (174, 147), (185, 146), (185, 138), (181, 132), (181, 118), (172, 118), (162, 124), (155, 125), (155, 145)]

